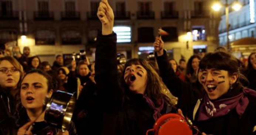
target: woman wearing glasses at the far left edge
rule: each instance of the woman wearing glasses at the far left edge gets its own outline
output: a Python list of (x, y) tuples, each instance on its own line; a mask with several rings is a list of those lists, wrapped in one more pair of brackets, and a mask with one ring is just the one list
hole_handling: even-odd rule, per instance
[[(0, 135), (14, 135), (17, 85), (23, 68), (13, 57), (0, 58)], [(18, 94), (17, 94), (18, 95)]]

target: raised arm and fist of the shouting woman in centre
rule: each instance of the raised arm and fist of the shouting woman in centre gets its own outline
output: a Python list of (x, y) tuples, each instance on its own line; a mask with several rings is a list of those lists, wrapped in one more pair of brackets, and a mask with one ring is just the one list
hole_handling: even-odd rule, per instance
[(116, 34), (113, 32), (114, 14), (107, 0), (102, 0), (98, 8), (98, 18), (102, 23), (102, 33), (97, 36), (95, 56), (95, 81), (103, 107), (115, 106), (120, 93), (117, 82)]

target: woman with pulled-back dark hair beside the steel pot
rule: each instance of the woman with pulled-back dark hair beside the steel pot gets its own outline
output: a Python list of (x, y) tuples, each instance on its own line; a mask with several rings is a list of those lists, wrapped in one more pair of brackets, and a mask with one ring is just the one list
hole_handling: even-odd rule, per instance
[[(28, 72), (19, 85), (21, 110), (18, 112), (17, 135), (76, 135), (73, 122), (64, 133), (44, 121), (45, 98), (51, 97), (54, 89), (52, 78), (41, 70)], [(28, 131), (30, 125), (33, 129)]]

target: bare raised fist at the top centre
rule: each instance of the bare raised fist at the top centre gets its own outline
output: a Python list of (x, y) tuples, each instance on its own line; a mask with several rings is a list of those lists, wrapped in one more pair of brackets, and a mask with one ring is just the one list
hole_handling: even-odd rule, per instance
[(107, 0), (102, 0), (100, 2), (97, 15), (102, 23), (102, 35), (112, 34), (114, 13)]

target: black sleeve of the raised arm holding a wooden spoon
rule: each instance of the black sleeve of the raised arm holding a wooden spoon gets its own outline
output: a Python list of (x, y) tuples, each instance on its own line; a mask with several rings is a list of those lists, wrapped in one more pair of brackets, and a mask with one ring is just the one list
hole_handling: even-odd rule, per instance
[(168, 62), (168, 57), (165, 50), (163, 55), (157, 56), (155, 53), (155, 56), (160, 71), (160, 77), (171, 93), (175, 97), (178, 97), (177, 108), (180, 108), (184, 115), (191, 118), (193, 108), (196, 103), (191, 85), (187, 82), (183, 82), (175, 74), (170, 63)]

